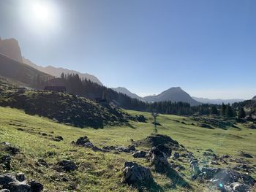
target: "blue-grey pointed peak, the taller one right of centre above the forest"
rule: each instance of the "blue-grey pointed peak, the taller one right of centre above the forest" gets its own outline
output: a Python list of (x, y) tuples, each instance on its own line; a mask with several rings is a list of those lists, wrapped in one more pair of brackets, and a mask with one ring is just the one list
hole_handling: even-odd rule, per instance
[(192, 99), (191, 96), (189, 96), (188, 93), (183, 91), (180, 87), (176, 88), (170, 88), (166, 91), (163, 91), (159, 95), (156, 96), (146, 96), (143, 97), (144, 101), (153, 102), (153, 101), (183, 101), (187, 102), (191, 105), (197, 105), (200, 104), (200, 102), (195, 101), (195, 99)]

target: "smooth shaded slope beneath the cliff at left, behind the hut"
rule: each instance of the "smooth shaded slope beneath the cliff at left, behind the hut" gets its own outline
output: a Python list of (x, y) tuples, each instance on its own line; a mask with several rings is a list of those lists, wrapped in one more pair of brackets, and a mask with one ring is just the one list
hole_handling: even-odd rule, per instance
[(0, 75), (28, 85), (39, 84), (41, 80), (52, 79), (53, 76), (40, 72), (31, 66), (22, 64), (0, 53)]

